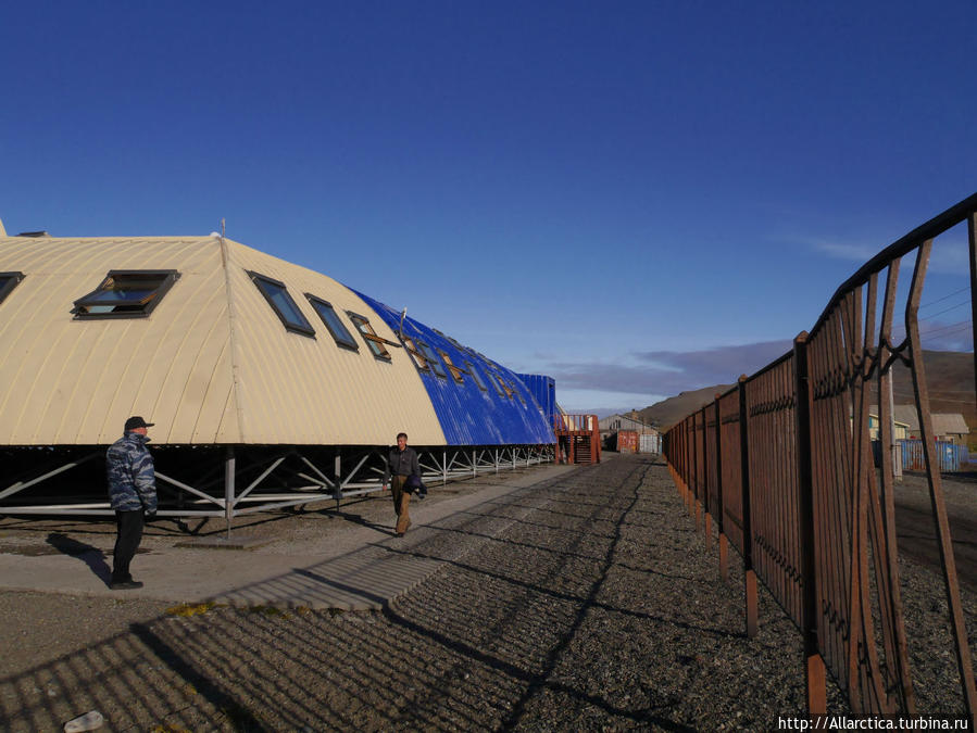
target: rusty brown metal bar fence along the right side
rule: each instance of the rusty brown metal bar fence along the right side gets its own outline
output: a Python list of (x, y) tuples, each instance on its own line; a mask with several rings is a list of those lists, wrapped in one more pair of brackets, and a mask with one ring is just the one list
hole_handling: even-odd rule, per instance
[[(743, 558), (747, 633), (753, 636), (757, 629), (757, 578), (800, 629), (811, 715), (826, 712), (826, 670), (855, 712), (916, 712), (900, 597), (892, 408), (886, 400), (878, 401), (880, 451), (873, 451), (868, 420), (873, 391), (891, 393), (891, 370), (901, 362), (912, 375), (920, 416), (919, 450), (952, 652), (974, 724), (977, 691), (917, 316), (932, 240), (964, 220), (970, 311), (977, 314), (974, 194), (876, 255), (835, 292), (810, 334), (798, 336), (789, 353), (751, 377), (740, 377), (734, 389), (665, 435), (665, 456), (697, 525), (700, 513), (707, 535), (710, 522), (717, 523), (724, 578), (727, 543)], [(914, 264), (909, 287), (901, 291), (905, 334), (897, 339), (893, 321), (903, 257)]]

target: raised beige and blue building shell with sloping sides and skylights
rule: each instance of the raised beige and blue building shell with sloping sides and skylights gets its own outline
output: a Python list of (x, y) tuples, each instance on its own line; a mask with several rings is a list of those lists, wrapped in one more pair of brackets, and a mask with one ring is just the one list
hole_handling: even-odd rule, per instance
[(515, 372), (216, 235), (0, 236), (0, 446), (107, 445), (130, 415), (162, 446), (555, 441)]

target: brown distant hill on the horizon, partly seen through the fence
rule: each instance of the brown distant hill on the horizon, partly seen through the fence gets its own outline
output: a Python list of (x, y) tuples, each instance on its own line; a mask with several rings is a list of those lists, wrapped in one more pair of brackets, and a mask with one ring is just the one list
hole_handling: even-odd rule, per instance
[[(972, 431), (977, 428), (977, 400), (974, 390), (974, 355), (969, 352), (924, 351), (923, 365), (934, 413), (960, 413)], [(716, 384), (682, 392), (677, 396), (638, 410), (640, 419), (664, 432), (687, 415), (713, 401), (732, 384)], [(892, 369), (892, 394), (895, 404), (913, 404), (913, 382), (909, 368), (897, 363)], [(878, 404), (873, 393), (872, 402)]]

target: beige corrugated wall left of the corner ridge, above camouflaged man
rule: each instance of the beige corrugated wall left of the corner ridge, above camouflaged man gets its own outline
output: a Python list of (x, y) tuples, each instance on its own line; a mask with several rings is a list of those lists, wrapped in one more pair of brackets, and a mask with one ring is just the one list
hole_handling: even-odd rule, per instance
[[(74, 301), (110, 269), (181, 277), (148, 318), (74, 320)], [(197, 442), (203, 427), (200, 442), (214, 441), (231, 390), (212, 384), (230, 370), (215, 240), (13, 237), (0, 270), (25, 274), (0, 305), (0, 444), (111, 443), (133, 414), (159, 424), (156, 443)]]

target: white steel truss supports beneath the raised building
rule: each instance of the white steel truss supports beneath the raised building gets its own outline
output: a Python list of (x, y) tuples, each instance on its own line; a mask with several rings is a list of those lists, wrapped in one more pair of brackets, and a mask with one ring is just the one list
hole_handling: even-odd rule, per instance
[[(554, 446), (416, 447), (426, 483), (552, 463)], [(153, 450), (162, 517), (235, 517), (384, 490), (381, 446), (160, 446)], [(105, 448), (22, 447), (0, 453), (0, 515), (112, 516)], [(38, 491), (49, 493), (37, 495)], [(25, 502), (25, 492), (30, 501)]]

